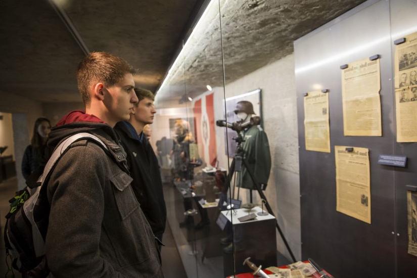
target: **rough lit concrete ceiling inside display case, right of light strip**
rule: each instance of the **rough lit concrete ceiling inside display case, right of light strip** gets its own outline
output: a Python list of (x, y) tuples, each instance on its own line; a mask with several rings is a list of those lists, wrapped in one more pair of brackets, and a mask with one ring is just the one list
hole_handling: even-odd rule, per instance
[[(161, 89), (158, 101), (194, 97), (234, 81), (293, 52), (293, 41), (356, 7), (363, 0), (221, 0), (208, 13), (182, 57), (183, 63)], [(215, 13), (217, 11), (217, 13)], [(220, 37), (221, 23), (221, 37)], [(222, 41), (221, 41), (222, 40)], [(222, 44), (221, 44), (222, 42)], [(158, 92), (159, 94), (159, 92)]]

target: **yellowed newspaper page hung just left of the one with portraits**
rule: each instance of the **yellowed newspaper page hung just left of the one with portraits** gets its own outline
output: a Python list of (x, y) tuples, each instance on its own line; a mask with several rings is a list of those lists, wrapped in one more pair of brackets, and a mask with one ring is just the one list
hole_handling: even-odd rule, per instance
[(342, 70), (345, 136), (382, 136), (380, 60), (359, 60)]

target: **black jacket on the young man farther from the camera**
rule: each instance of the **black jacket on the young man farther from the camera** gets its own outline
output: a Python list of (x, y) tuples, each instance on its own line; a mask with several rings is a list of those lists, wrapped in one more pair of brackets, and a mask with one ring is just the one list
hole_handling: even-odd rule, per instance
[[(114, 129), (127, 153), (127, 163), (133, 178), (132, 188), (156, 237), (162, 240), (165, 230), (166, 207), (158, 159), (144, 137), (137, 140), (128, 129), (128, 122), (118, 122)], [(131, 126), (131, 125), (130, 125)]]

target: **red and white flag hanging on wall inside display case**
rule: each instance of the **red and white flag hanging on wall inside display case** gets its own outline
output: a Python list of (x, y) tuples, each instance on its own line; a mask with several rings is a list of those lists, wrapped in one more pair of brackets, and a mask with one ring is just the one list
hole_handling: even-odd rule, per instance
[(214, 120), (214, 93), (203, 94), (193, 100), (195, 137), (199, 157), (207, 164), (216, 166), (217, 144)]

